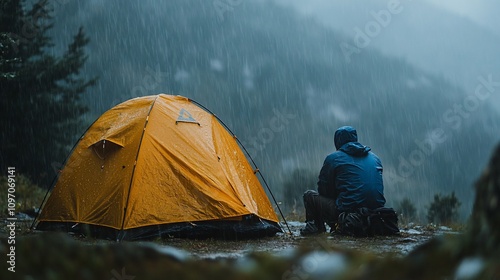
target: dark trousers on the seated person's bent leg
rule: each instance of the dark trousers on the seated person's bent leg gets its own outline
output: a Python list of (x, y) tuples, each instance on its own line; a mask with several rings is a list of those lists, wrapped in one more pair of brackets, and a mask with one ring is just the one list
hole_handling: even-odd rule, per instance
[(325, 223), (330, 227), (335, 225), (339, 216), (335, 200), (322, 196), (314, 190), (307, 190), (303, 198), (306, 223), (314, 222), (314, 225), (322, 232), (326, 230)]

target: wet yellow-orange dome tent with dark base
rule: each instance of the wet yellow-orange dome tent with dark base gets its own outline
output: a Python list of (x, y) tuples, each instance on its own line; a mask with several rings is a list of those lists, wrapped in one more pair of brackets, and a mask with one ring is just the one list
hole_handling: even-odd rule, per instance
[(79, 140), (37, 229), (112, 239), (274, 235), (277, 216), (235, 137), (171, 95), (128, 100)]

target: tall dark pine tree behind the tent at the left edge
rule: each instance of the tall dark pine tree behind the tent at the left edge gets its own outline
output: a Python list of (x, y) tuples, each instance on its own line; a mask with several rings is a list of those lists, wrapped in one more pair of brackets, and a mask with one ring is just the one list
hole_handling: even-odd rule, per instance
[[(78, 30), (60, 57), (48, 31), (53, 18), (48, 0), (26, 7), (3, 0), (0, 13), (0, 168), (47, 186), (55, 162), (64, 161), (87, 111), (80, 100), (95, 78), (80, 77), (89, 39)], [(59, 164), (60, 165), (60, 164)]]

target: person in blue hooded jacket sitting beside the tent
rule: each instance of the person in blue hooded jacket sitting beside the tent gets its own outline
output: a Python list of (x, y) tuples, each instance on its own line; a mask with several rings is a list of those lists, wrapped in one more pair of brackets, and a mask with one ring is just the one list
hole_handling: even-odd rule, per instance
[(325, 222), (333, 228), (340, 213), (367, 207), (384, 207), (382, 162), (371, 149), (358, 142), (356, 129), (343, 126), (335, 131), (335, 148), (329, 154), (318, 176), (318, 191), (304, 193), (306, 227), (301, 234), (326, 231)]

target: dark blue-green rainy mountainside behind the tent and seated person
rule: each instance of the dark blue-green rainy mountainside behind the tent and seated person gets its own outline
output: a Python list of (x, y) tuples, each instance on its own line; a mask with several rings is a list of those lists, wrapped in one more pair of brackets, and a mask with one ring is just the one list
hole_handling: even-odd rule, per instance
[(353, 125), (382, 159), (392, 205), (411, 197), (423, 207), (454, 190), (471, 208), (471, 183), (497, 137), (488, 75), (476, 96), (371, 46), (347, 61), (339, 45), (348, 36), (270, 1), (55, 8), (57, 46), (80, 25), (91, 39), (84, 74), (100, 80), (85, 97), (89, 123), (137, 96), (192, 98), (233, 130), (279, 199), (292, 172), (319, 172), (335, 129)]

